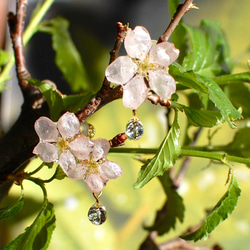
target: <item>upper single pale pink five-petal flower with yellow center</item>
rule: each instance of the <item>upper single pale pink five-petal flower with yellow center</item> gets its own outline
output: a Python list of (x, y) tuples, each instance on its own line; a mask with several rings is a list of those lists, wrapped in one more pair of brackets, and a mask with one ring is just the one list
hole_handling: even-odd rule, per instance
[(168, 74), (168, 66), (179, 56), (174, 44), (153, 45), (147, 29), (136, 26), (128, 30), (124, 46), (128, 55), (118, 57), (105, 71), (108, 81), (123, 86), (123, 105), (137, 109), (146, 100), (148, 89), (170, 99), (176, 83)]

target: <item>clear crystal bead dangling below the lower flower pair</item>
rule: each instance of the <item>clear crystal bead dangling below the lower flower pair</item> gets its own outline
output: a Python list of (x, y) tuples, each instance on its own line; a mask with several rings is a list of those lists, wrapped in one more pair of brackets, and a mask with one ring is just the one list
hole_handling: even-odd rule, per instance
[(106, 214), (105, 207), (96, 203), (89, 209), (88, 218), (94, 225), (101, 225), (106, 221)]

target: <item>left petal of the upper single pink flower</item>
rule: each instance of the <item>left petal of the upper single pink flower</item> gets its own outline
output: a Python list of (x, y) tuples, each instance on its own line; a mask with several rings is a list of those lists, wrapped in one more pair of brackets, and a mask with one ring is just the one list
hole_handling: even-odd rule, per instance
[(119, 56), (106, 69), (108, 81), (116, 84), (127, 83), (136, 73), (137, 65), (128, 56)]

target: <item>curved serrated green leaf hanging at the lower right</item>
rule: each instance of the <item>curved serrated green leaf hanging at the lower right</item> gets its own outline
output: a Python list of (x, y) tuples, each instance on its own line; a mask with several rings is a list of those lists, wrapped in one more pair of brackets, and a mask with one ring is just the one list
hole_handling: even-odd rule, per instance
[(184, 240), (198, 241), (207, 238), (214, 229), (224, 220), (227, 219), (228, 214), (231, 214), (237, 206), (238, 198), (241, 189), (238, 185), (234, 175), (231, 177), (227, 192), (219, 200), (216, 206), (210, 211), (205, 218), (204, 223), (199, 229), (188, 235), (183, 235), (181, 238)]

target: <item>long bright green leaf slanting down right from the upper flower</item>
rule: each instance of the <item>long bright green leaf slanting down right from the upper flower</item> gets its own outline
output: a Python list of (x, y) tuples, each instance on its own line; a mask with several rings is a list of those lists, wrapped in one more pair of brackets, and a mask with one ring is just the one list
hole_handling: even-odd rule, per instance
[(233, 121), (242, 118), (241, 113), (235, 109), (216, 82), (195, 74), (193, 71), (184, 72), (183, 70), (180, 65), (175, 63), (170, 67), (170, 74), (182, 85), (208, 94), (209, 99), (215, 104), (225, 120), (232, 128), (235, 128)]

